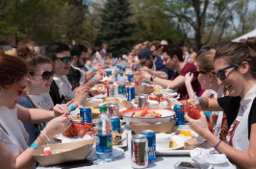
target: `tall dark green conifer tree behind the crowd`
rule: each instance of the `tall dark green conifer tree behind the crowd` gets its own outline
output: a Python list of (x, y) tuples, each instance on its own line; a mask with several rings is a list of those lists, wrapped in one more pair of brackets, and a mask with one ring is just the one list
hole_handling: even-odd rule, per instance
[(132, 16), (130, 2), (127, 0), (107, 0), (101, 14), (101, 23), (97, 43), (108, 44), (108, 51), (119, 57), (131, 50), (135, 32), (135, 23), (129, 21)]

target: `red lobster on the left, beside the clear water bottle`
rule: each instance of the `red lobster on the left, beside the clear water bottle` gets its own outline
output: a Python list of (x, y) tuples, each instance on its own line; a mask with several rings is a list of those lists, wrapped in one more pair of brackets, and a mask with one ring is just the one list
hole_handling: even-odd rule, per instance
[(76, 136), (80, 130), (86, 130), (86, 132), (94, 132), (92, 123), (72, 123), (72, 125), (64, 132), (66, 136)]

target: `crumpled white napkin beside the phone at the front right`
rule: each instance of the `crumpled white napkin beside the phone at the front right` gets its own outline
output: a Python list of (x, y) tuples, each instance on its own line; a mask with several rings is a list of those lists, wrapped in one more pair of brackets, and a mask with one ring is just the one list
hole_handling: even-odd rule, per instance
[(209, 149), (195, 148), (191, 152), (191, 157), (194, 161), (200, 164), (212, 164), (216, 167), (236, 169), (224, 154), (219, 154), (217, 151)]

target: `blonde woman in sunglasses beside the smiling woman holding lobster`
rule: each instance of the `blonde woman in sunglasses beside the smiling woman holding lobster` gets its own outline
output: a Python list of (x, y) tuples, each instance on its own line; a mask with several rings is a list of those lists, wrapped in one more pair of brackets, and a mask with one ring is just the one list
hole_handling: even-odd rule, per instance
[[(215, 67), (214, 67), (214, 57), (215, 52), (204, 52), (201, 55), (196, 57), (197, 70), (193, 73), (187, 73), (185, 76), (185, 84), (189, 93), (190, 98), (194, 96), (194, 91), (192, 89), (192, 78), (193, 75), (197, 77), (199, 83), (201, 84), (202, 89), (205, 89), (205, 92), (201, 97), (209, 98), (218, 98), (222, 97), (222, 85), (218, 84), (218, 81), (215, 77)], [(217, 121), (215, 121), (215, 115), (218, 115)], [(213, 123), (216, 123), (215, 135), (218, 135), (221, 128), (221, 122), (223, 117), (223, 111), (213, 111), (210, 115), (210, 120)], [(214, 124), (215, 125), (215, 124)]]

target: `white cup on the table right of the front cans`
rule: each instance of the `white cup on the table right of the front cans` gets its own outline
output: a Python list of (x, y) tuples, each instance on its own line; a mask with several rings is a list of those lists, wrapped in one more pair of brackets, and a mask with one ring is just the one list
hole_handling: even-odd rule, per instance
[(156, 149), (166, 150), (169, 149), (169, 133), (156, 133)]

